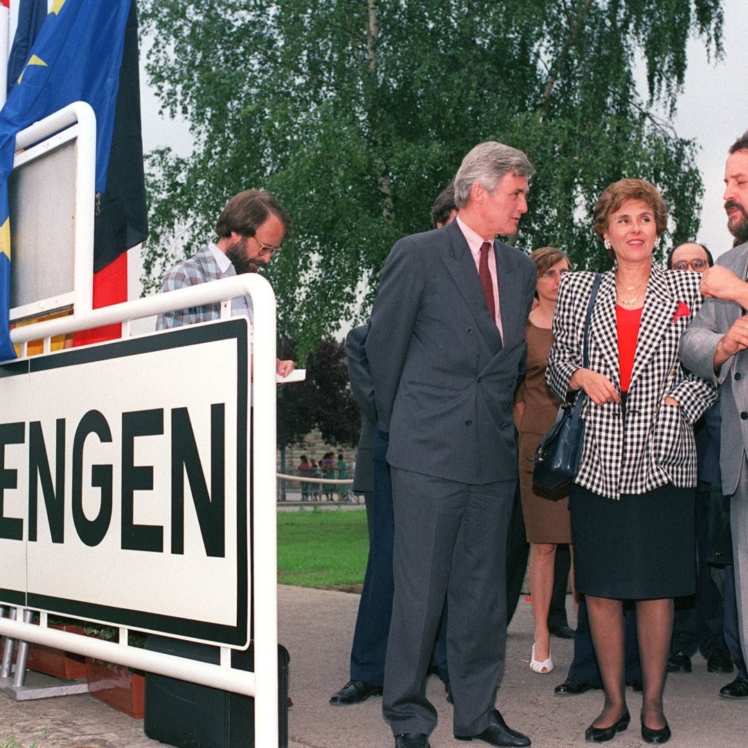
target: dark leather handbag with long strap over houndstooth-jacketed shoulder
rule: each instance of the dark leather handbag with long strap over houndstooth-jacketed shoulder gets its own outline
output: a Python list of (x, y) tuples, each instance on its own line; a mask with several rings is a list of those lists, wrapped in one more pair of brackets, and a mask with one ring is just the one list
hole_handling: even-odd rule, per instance
[[(589, 366), (589, 320), (592, 319), (592, 307), (602, 276), (595, 273), (592, 294), (587, 305), (587, 316), (584, 320), (584, 359), (583, 368)], [(548, 491), (560, 491), (566, 488), (579, 472), (579, 462), (584, 441), (584, 420), (582, 408), (587, 396), (584, 390), (577, 392), (574, 402), (562, 405), (556, 423), (548, 429), (535, 452), (533, 483)]]

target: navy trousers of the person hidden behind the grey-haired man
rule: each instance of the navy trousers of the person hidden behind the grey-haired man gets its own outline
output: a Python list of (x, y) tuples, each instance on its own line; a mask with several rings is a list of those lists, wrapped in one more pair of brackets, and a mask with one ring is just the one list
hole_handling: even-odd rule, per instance
[[(394, 589), (392, 482), (386, 455), (387, 434), (377, 429), (373, 449), (374, 490), (373, 494), (367, 497), (369, 557), (351, 647), (351, 680), (364, 681), (375, 686), (384, 684), (384, 658), (387, 656)], [(438, 643), (438, 666), (441, 679), (447, 682), (449, 675), (446, 625), (442, 626), (442, 630)]]

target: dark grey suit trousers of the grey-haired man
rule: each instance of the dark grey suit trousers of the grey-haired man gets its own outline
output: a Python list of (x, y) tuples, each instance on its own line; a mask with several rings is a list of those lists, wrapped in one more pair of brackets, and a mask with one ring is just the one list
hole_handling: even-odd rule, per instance
[(436, 726), (426, 672), (447, 595), (455, 735), (488, 727), (506, 648), (506, 533), (515, 480), (469, 485), (392, 468), (395, 594), (384, 666), (393, 734)]

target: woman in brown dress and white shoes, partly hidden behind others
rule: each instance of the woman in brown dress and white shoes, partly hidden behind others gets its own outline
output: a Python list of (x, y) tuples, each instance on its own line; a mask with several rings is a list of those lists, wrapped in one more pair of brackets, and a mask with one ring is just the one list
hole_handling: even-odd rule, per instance
[[(560, 402), (545, 384), (545, 366), (551, 352), (551, 322), (561, 275), (569, 271), (566, 255), (553, 247), (530, 254), (538, 269), (538, 306), (527, 322), (527, 374), (515, 396), (515, 421), (519, 432), (519, 476), (522, 515), (530, 550), (530, 592), (533, 596), (535, 638), (530, 668), (548, 673), (551, 634), (548, 609), (554, 586), (554, 562), (558, 543), (571, 543), (571, 524), (566, 494), (551, 494), (533, 485), (533, 456), (545, 432), (556, 420)], [(571, 548), (570, 548), (571, 550)]]

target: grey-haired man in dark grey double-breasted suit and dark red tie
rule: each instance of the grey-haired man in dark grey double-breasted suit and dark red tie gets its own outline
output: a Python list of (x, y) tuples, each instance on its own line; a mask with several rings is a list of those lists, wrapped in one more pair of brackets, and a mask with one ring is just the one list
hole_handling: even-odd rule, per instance
[(537, 274), (495, 238), (516, 232), (532, 174), (515, 148), (473, 148), (455, 177), (457, 218), (394, 245), (372, 311), (366, 351), (393, 485), (383, 710), (396, 748), (429, 748), (424, 681), (445, 594), (456, 737), (530, 745), (494, 700), (517, 481), (512, 399)]

